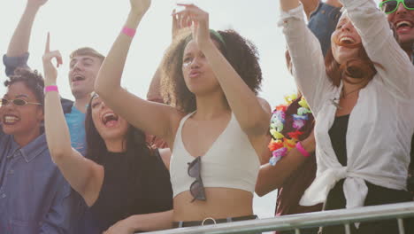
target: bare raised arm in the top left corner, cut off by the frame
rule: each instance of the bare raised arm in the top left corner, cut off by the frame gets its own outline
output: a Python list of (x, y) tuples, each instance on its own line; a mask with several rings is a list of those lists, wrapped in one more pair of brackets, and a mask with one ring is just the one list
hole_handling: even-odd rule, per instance
[(18, 57), (28, 52), (30, 34), (36, 13), (48, 0), (27, 0), (25, 12), (20, 18), (19, 25), (14, 30), (12, 40), (7, 49), (7, 57)]

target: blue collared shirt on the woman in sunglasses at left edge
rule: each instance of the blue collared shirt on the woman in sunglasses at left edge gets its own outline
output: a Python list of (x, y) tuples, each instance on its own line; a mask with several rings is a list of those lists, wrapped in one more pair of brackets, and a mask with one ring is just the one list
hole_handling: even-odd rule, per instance
[(50, 158), (46, 136), (19, 147), (0, 125), (0, 232), (67, 233), (73, 206), (71, 188)]

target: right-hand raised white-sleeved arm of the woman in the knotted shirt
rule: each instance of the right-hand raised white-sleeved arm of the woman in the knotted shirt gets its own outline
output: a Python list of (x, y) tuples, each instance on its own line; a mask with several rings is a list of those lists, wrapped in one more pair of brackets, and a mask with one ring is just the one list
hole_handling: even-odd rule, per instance
[(386, 15), (373, 0), (341, 0), (349, 19), (361, 35), (364, 49), (376, 66), (383, 82), (397, 98), (412, 98), (414, 66), (396, 42)]

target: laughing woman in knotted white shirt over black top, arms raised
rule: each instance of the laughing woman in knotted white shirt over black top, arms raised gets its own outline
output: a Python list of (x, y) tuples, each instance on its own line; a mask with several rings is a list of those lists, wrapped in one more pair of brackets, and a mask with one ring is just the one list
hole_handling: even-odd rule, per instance
[[(295, 80), (317, 120), (318, 173), (301, 205), (325, 202), (331, 210), (409, 201), (414, 67), (374, 1), (341, 2), (346, 11), (324, 61), (302, 5), (280, 0)], [(378, 234), (398, 228), (385, 221), (351, 225), (351, 230)], [(412, 231), (406, 226), (406, 233)], [(344, 233), (344, 227), (322, 233)]]

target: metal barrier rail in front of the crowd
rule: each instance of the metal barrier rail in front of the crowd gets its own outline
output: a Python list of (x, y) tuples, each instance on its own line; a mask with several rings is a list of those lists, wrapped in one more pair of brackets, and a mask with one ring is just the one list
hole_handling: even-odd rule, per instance
[(300, 229), (330, 226), (342, 224), (347, 234), (350, 234), (350, 224), (354, 222), (368, 222), (386, 219), (396, 219), (399, 234), (403, 230), (403, 218), (414, 217), (414, 202), (396, 203), (390, 205), (358, 207), (353, 209), (341, 209), (322, 211), (308, 214), (286, 215), (281, 217), (249, 220), (242, 222), (226, 222), (217, 225), (206, 225), (201, 227), (181, 228), (173, 230), (160, 230), (147, 233), (152, 234), (219, 234), (219, 233), (252, 233), (272, 230), (295, 230), (300, 234)]

